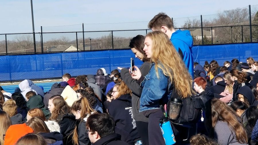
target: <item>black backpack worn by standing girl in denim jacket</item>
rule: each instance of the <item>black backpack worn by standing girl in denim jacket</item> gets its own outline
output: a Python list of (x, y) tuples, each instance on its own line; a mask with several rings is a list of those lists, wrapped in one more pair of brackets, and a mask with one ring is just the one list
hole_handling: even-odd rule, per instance
[[(173, 111), (172, 99), (176, 98), (182, 101), (181, 110), (179, 111), (179, 115), (176, 119), (171, 119), (170, 112)], [(200, 97), (195, 95), (189, 96), (187, 98), (182, 99), (175, 89), (169, 98), (167, 103), (167, 114), (170, 121), (174, 124), (178, 124), (185, 127), (191, 127), (193, 124), (196, 124), (198, 120), (202, 117), (202, 108), (205, 108), (205, 105)]]

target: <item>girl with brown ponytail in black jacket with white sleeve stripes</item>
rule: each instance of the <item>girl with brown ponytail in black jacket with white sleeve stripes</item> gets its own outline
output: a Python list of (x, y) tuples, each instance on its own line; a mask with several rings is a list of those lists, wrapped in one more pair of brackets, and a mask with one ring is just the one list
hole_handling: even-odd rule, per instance
[(247, 74), (244, 73), (244, 72), (240, 72), (238, 69), (232, 69), (230, 70), (230, 79), (231, 81), (234, 82), (234, 85), (233, 85), (233, 98), (230, 102), (230, 104), (234, 101), (238, 101), (238, 97), (236, 95), (236, 93), (238, 92), (238, 90), (247, 85), (247, 86), (251, 86), (247, 81), (246, 79), (247, 77)]

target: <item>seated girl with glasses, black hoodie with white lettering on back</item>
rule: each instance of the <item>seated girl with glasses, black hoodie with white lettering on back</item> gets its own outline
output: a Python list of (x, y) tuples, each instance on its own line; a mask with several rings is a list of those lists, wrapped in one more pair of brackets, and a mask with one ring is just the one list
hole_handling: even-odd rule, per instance
[(138, 140), (140, 136), (133, 118), (131, 94), (132, 91), (124, 81), (117, 83), (113, 88), (114, 100), (110, 102), (108, 113), (114, 118), (116, 127), (128, 132), (133, 140)]

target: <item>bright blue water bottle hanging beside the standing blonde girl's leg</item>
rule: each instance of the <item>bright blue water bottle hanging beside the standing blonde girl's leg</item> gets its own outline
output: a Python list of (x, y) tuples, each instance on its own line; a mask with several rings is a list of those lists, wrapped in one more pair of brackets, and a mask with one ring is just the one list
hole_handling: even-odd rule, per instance
[(167, 117), (162, 118), (159, 126), (161, 128), (161, 132), (162, 132), (162, 135), (163, 135), (166, 145), (175, 144), (176, 143), (175, 136), (174, 136), (171, 124), (167, 120)]

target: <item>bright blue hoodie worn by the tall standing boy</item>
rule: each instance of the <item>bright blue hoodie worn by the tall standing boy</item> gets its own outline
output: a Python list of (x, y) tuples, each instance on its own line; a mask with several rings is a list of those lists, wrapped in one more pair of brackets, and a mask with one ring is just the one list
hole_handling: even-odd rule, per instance
[(181, 49), (185, 66), (188, 68), (188, 71), (193, 78), (193, 52), (191, 49), (193, 47), (193, 38), (190, 31), (177, 30), (176, 32), (172, 33), (170, 40), (175, 46), (177, 52), (179, 51), (179, 48)]

